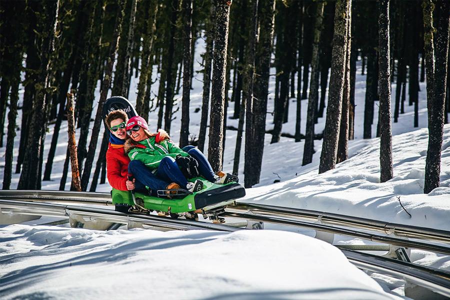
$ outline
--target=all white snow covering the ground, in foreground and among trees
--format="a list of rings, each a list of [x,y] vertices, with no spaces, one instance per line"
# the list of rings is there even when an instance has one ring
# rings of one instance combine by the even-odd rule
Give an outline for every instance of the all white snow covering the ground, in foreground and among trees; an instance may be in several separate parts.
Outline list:
[[[203,44],[199,41],[195,70],[201,68],[198,61],[202,51]],[[155,74],[153,72],[153,76]],[[201,107],[201,79],[198,75],[192,81],[189,128],[192,135],[198,134],[200,124],[200,112],[195,110]],[[273,110],[273,80],[272,77],[268,112]],[[136,87],[137,79],[133,77],[129,95],[132,103],[135,103]],[[407,106],[407,103],[405,113],[400,115],[398,123],[393,123],[392,180],[379,183],[379,139],[362,139],[365,76],[360,75],[358,70],[355,140],[349,141],[349,159],[337,164],[334,170],[317,174],[321,141],[314,141],[316,153],[312,163],[301,166],[303,141],[295,143],[293,139],[281,137],[279,143],[270,144],[270,135],[266,135],[260,183],[247,189],[247,196],[242,200],[450,230],[450,125],[444,127],[441,187],[424,195],[427,148],[424,83],[420,83],[420,88],[419,127],[412,128],[413,107]],[[157,83],[153,84],[152,90],[157,92]],[[97,90],[97,97],[98,94]],[[395,85],[392,85],[392,95],[395,95]],[[180,105],[181,96],[177,95],[175,99],[176,105]],[[293,134],[296,101],[292,98],[289,102],[289,121],[283,124],[282,132]],[[306,105],[307,100],[303,100],[302,132]],[[228,116],[232,114],[233,107],[234,103],[229,103]],[[377,109],[375,103],[372,136],[376,132]],[[92,117],[95,110],[96,102]],[[156,130],[156,114],[156,111],[150,113],[150,130]],[[177,141],[180,111],[174,116],[170,135]],[[20,119],[21,111],[17,120]],[[227,125],[237,127],[237,120],[228,119]],[[270,129],[272,126],[272,116],[268,113],[266,127]],[[321,132],[323,128],[324,118],[319,118],[315,132]],[[44,158],[48,153],[53,126],[48,129]],[[67,145],[66,129],[67,125],[63,122],[52,180],[42,182],[42,189],[55,190],[59,187]],[[15,149],[18,148],[19,133],[15,139]],[[227,172],[232,170],[235,139],[236,131],[227,130],[223,166]],[[14,151],[13,170],[16,155],[17,151]],[[2,167],[4,156],[0,157]],[[244,177],[242,172],[243,147],[240,181]],[[12,189],[16,188],[18,178],[18,174],[13,175]],[[3,172],[0,172],[2,180]],[[280,182],[273,184],[275,180]],[[66,190],[69,186],[70,172]],[[108,184],[97,187],[97,191],[109,190]],[[399,201],[412,217],[401,208]],[[279,229],[274,226],[267,228]],[[398,281],[376,275],[370,278],[349,264],[331,245],[298,234],[310,234],[307,231],[291,231],[294,232],[96,232],[23,224],[1,226],[0,298],[395,299],[394,295],[403,296]],[[368,242],[335,237],[334,243]],[[445,256],[413,250],[411,261],[450,271],[450,258]],[[391,294],[386,294],[383,289]]]

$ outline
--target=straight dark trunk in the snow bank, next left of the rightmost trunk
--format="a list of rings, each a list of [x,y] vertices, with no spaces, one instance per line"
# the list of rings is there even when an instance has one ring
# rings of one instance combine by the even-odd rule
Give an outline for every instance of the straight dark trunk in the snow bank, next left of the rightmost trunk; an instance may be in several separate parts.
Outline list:
[[[392,170],[392,127],[390,113],[390,69],[389,69],[389,0],[379,1],[378,17],[379,43],[379,166],[380,182],[393,177]]]

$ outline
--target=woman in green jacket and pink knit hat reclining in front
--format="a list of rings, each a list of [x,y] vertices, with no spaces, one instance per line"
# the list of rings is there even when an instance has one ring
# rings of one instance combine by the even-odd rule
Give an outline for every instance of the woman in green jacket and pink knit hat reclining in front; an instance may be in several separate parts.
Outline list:
[[[129,119],[126,123],[126,133],[130,139],[125,143],[125,153],[131,161],[141,161],[160,179],[173,181],[189,192],[198,192],[203,188],[201,180],[197,179],[192,183],[186,179],[196,177],[198,173],[216,184],[233,180],[232,175],[221,171],[214,174],[204,155],[193,146],[186,146],[183,151],[172,142],[164,130],[150,133],[147,122],[139,116]]]

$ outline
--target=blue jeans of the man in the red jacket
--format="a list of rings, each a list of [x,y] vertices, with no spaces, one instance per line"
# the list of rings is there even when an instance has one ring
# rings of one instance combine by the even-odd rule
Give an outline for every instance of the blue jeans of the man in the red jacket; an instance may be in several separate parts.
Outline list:
[[[128,164],[128,172],[133,174],[136,181],[134,182],[135,190],[139,192],[145,192],[145,186],[149,187],[152,191],[165,190],[169,182],[161,180],[156,175],[151,173],[150,169],[138,161],[132,160]]]

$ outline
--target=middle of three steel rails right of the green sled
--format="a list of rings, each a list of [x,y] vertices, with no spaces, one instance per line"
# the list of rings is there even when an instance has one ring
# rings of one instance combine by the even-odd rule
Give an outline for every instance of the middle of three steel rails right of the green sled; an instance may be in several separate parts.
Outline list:
[[[337,227],[332,227],[332,226],[324,225],[324,224],[310,223],[310,222],[304,222],[304,221],[292,220],[292,219],[283,219],[283,218],[279,218],[279,217],[262,216],[262,215],[249,214],[249,213],[230,213],[230,212],[226,212],[226,211],[224,213],[224,217],[239,218],[239,219],[245,219],[245,220],[250,220],[250,221],[309,228],[309,229],[313,229],[313,230],[324,231],[324,232],[339,234],[339,235],[343,235],[343,236],[350,236],[350,237],[360,238],[360,239],[369,240],[369,241],[378,242],[378,243],[390,244],[390,245],[413,248],[413,249],[421,249],[421,250],[426,250],[426,251],[430,251],[430,252],[434,252],[434,253],[450,255],[450,247],[443,247],[443,246],[427,244],[427,243],[422,243],[422,242],[373,235],[373,234],[360,232],[360,231],[356,231],[356,230],[352,230],[352,229],[337,228]]]

